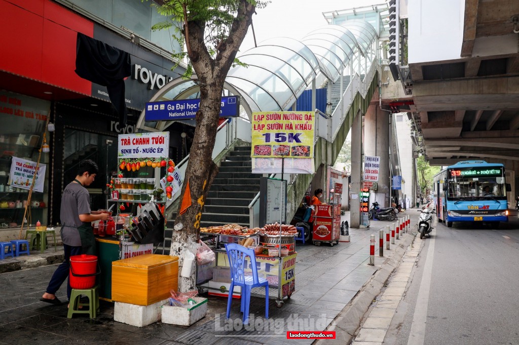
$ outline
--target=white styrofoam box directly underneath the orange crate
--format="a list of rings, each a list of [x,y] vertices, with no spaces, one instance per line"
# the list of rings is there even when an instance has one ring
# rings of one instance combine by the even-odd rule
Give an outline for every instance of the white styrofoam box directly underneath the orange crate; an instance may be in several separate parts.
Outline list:
[[[160,300],[149,306],[115,302],[114,321],[136,327],[144,327],[160,321],[161,307],[168,303],[167,299]]]

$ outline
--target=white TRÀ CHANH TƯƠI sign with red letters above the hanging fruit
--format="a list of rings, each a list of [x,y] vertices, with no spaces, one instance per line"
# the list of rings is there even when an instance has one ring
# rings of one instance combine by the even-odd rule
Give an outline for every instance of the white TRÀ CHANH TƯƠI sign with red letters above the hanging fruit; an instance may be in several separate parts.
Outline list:
[[[169,132],[119,134],[117,157],[160,158],[169,155]]]

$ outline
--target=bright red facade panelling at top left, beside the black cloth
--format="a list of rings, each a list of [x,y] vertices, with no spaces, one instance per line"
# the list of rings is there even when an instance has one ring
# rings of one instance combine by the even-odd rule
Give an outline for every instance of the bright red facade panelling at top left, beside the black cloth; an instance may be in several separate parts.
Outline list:
[[[0,13],[0,70],[90,95],[74,69],[77,32],[92,37],[92,22],[49,0],[0,0]]]

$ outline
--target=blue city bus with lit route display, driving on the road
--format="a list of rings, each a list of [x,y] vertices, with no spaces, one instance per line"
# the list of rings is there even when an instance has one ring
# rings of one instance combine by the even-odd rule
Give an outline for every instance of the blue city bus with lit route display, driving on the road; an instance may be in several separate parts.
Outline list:
[[[434,176],[434,200],[438,222],[486,222],[497,228],[508,222],[504,166],[485,161],[463,161]]]

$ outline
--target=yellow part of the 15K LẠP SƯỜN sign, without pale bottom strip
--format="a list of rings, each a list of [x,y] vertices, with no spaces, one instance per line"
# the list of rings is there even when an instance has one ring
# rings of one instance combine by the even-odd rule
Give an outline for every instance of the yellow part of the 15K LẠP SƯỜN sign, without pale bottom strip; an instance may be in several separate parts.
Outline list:
[[[252,113],[252,157],[313,157],[314,111]]]

